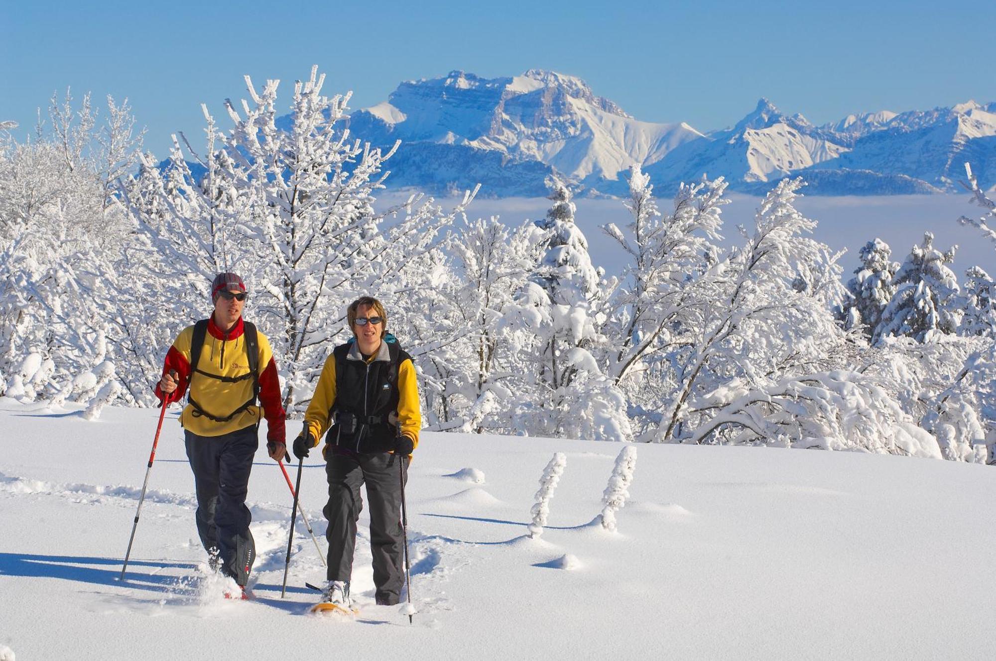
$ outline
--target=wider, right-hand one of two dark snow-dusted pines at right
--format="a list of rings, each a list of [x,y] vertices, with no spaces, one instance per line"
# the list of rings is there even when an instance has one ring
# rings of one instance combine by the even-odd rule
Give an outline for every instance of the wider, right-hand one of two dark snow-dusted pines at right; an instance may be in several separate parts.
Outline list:
[[[922,342],[938,333],[957,331],[962,314],[958,279],[946,266],[954,261],[957,248],[942,253],[933,246],[933,234],[924,233],[923,244],[913,246],[895,273],[895,292],[882,311],[872,341],[908,335]]]

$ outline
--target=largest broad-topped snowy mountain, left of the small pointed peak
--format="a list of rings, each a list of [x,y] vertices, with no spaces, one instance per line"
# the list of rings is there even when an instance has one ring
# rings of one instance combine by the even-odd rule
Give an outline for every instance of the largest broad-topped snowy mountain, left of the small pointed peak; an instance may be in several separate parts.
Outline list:
[[[497,194],[518,193],[522,182],[495,168],[505,173],[525,168],[539,190],[553,173],[573,182],[618,181],[629,165],[656,162],[702,136],[683,122],[638,121],[596,96],[582,79],[541,69],[495,79],[451,71],[407,81],[388,101],[357,110],[350,120],[355,135],[377,146],[404,143],[394,160],[395,185],[424,186],[425,172],[410,184],[398,182],[414,166],[434,169],[433,178],[449,181],[458,173],[460,181],[467,179],[459,185],[466,187],[504,179],[492,184]],[[488,171],[480,172],[485,163]]]

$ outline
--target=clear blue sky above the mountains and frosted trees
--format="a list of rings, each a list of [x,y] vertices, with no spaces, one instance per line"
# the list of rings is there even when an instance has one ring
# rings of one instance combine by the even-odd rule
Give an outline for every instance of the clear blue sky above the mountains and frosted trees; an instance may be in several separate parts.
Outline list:
[[[996,101],[996,3],[0,0],[0,120],[35,122],[55,91],[129,98],[146,146],[245,97],[288,93],[312,64],[354,108],[462,69],[579,76],[648,121],[730,125],[764,96],[822,123],[854,111]],[[301,7],[301,9],[296,9]]]

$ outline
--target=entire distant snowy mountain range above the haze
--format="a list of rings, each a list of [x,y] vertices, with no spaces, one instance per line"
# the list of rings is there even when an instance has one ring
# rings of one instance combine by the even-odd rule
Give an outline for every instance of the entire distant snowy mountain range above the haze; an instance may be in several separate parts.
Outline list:
[[[484,79],[460,71],[401,83],[387,101],[356,110],[352,133],[376,146],[401,140],[391,187],[447,192],[482,184],[495,197],[546,194],[559,176],[588,194],[624,194],[640,163],[656,191],[706,173],[761,193],[803,176],[809,194],[935,193],[958,188],[963,163],[996,184],[996,103],[851,114],[816,126],[762,99],[732,128],[640,121],[581,79],[530,70]]]

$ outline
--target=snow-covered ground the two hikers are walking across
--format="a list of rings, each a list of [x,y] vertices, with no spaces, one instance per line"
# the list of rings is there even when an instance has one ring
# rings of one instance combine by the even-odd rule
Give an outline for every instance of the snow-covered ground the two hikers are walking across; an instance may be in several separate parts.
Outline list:
[[[353,576],[362,612],[348,621],[306,614],[315,594],[304,583],[324,570],[300,520],[280,598],[291,498],[264,448],[249,485],[255,599],[212,596],[176,411],[120,582],[156,411],[108,408],[89,422],[76,405],[0,399],[0,656],[5,647],[18,661],[996,655],[990,467],[639,445],[614,534],[596,519],[624,446],[426,433],[407,490],[414,623],[398,606],[373,605],[366,513]],[[529,539],[555,452],[567,466],[548,527]],[[302,501],[323,549],[325,495],[313,457]]]

